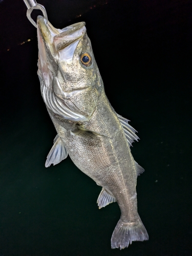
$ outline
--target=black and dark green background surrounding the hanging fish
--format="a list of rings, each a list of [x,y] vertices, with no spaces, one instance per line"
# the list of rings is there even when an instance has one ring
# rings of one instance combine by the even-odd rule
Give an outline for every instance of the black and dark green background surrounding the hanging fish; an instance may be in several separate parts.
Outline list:
[[[139,131],[132,153],[145,169],[138,211],[150,240],[112,250],[118,205],[99,210],[100,187],[69,157],[45,168],[56,132],[39,90],[36,29],[22,0],[4,0],[0,255],[191,256],[192,1],[38,3],[56,28],[86,22],[106,95]]]

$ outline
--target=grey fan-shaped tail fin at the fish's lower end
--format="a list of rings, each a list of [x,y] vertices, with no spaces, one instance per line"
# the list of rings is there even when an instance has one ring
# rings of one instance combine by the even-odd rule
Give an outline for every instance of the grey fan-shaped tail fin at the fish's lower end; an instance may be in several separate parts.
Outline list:
[[[132,244],[133,241],[148,240],[147,231],[139,217],[137,222],[118,221],[111,238],[111,247],[124,249]]]

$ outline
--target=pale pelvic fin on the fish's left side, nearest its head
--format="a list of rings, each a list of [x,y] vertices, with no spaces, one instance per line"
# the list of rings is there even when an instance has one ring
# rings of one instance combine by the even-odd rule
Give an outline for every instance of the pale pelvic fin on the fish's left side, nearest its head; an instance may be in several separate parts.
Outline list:
[[[53,140],[54,145],[52,146],[46,160],[46,167],[49,167],[52,163],[53,165],[60,163],[62,160],[66,159],[68,156],[67,150],[58,134]]]

